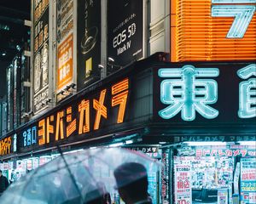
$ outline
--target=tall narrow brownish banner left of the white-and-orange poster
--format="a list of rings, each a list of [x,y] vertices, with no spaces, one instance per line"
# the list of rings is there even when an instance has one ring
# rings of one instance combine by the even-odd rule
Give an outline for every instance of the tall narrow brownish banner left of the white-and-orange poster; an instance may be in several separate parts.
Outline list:
[[[43,111],[49,98],[49,1],[34,3],[33,110]]]

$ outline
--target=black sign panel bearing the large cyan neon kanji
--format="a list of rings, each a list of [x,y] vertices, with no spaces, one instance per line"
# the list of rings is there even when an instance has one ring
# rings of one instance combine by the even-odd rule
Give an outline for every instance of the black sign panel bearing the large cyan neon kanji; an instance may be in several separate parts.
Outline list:
[[[175,64],[155,73],[156,120],[255,122],[256,64]]]

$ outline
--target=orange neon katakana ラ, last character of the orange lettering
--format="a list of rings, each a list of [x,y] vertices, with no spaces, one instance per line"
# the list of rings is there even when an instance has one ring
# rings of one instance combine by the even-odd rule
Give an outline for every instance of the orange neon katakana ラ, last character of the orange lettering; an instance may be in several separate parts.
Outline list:
[[[118,82],[112,87],[112,106],[119,105],[119,114],[117,123],[124,122],[126,102],[128,98],[129,80],[125,78],[123,81]]]

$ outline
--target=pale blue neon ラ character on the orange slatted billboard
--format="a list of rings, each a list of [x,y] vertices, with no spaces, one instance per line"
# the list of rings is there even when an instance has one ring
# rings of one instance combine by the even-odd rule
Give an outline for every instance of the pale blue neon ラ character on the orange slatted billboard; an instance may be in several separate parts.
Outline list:
[[[256,6],[241,3],[256,3],[256,0],[212,0],[212,3],[218,3],[212,5],[213,17],[235,17],[227,38],[242,38],[253,19]]]

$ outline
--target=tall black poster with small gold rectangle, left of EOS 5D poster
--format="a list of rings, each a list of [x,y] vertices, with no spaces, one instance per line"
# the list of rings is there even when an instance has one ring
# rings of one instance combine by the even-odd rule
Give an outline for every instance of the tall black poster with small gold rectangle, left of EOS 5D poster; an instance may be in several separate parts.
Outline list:
[[[78,89],[100,79],[101,1],[78,2]]]

